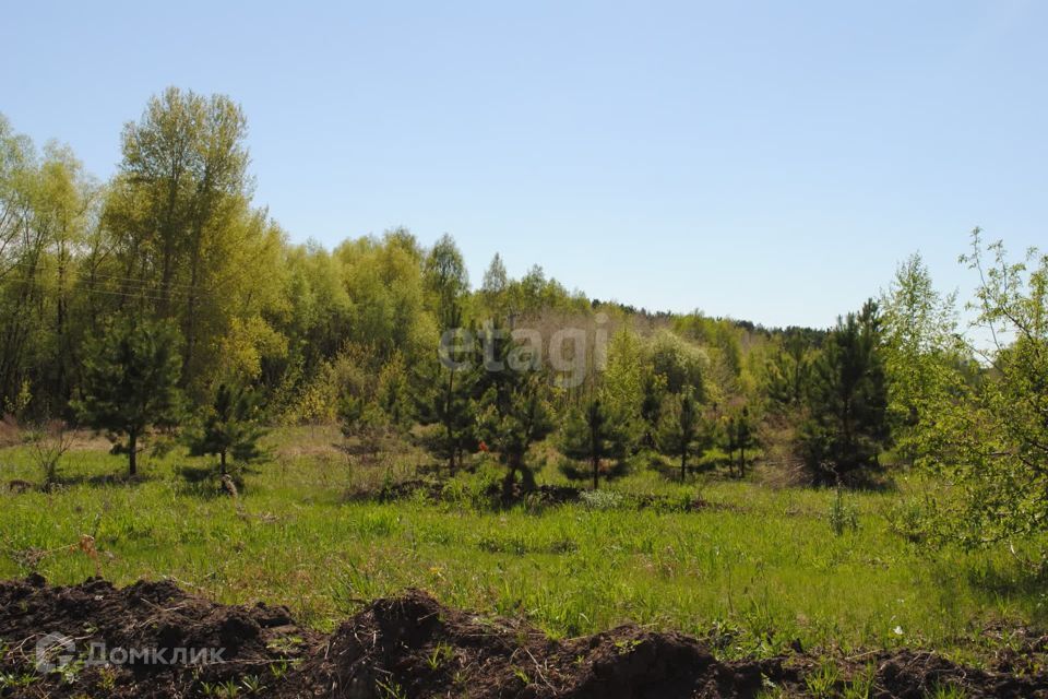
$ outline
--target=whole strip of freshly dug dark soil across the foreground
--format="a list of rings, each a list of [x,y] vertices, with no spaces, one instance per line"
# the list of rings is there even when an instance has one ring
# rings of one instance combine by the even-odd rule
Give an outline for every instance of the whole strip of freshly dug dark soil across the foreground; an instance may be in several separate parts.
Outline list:
[[[221,662],[195,666],[74,662],[40,673],[36,644],[50,632],[73,637],[81,661],[98,643],[110,657],[112,649],[163,650],[168,660],[176,648],[225,650]],[[827,689],[843,692],[873,668],[872,697],[933,696],[953,685],[965,697],[1048,698],[1046,639],[1027,640],[993,671],[917,651],[845,659]],[[802,654],[725,663],[700,640],[632,626],[551,641],[524,623],[450,609],[414,590],[371,603],[324,636],[296,625],[284,607],[214,604],[170,582],[122,590],[100,579],[69,588],[39,577],[0,582],[0,697],[627,699],[755,697],[773,688],[802,697],[814,690],[809,680],[824,676],[823,663]]]

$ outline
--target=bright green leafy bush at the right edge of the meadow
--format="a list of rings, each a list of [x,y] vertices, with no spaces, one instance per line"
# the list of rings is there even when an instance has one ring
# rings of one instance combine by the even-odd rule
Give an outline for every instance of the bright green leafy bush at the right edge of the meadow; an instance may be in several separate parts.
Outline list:
[[[1048,254],[1011,262],[976,229],[962,259],[979,274],[975,323],[991,346],[979,380],[948,376],[919,463],[955,484],[936,501],[939,536],[980,546],[1048,531]]]

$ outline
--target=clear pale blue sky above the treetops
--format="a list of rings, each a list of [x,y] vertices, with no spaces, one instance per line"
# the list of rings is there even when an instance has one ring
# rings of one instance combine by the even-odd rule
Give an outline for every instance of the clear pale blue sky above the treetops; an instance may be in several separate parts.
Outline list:
[[[825,327],[921,251],[1048,242],[1048,2],[7,3],[0,111],[108,177],[167,85],[293,240],[410,228],[569,288]],[[1043,246],[1044,247],[1044,246]]]

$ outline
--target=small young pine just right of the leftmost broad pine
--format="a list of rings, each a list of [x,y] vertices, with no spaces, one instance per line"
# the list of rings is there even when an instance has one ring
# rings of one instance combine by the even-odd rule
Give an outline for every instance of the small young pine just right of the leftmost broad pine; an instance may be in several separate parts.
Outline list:
[[[230,457],[240,463],[262,458],[258,442],[263,434],[254,395],[223,383],[201,424],[189,435],[189,452],[194,457],[218,457],[218,474],[224,476]]]

